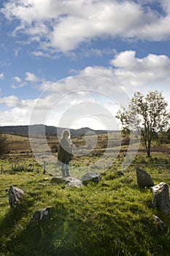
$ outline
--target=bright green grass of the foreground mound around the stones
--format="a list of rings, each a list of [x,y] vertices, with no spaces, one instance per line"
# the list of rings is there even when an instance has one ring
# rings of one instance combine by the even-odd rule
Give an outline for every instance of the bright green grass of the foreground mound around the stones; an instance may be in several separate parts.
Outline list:
[[[130,181],[109,170],[98,184],[80,189],[50,184],[41,173],[0,176],[0,255],[163,255],[170,251],[169,217],[152,208],[150,189],[139,190],[136,177]],[[158,173],[156,183],[163,181]],[[45,184],[46,186],[42,186]],[[25,192],[12,212],[9,186]],[[28,227],[39,208],[52,206],[47,219]],[[160,217],[166,230],[157,230],[152,214]]]

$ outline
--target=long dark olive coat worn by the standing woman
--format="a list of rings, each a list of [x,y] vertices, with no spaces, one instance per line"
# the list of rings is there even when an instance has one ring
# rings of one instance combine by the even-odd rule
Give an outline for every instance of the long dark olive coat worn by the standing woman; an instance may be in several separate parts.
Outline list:
[[[61,138],[58,145],[58,164],[68,164],[72,159],[72,141],[68,138]]]

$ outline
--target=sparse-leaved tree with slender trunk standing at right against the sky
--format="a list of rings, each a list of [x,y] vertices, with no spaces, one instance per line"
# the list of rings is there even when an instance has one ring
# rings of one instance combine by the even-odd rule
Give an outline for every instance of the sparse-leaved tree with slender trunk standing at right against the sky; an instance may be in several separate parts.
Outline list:
[[[151,142],[158,133],[167,129],[170,113],[166,110],[168,103],[159,91],[149,91],[144,97],[136,91],[128,105],[117,111],[116,118],[120,119],[124,134],[137,129],[141,132],[147,157],[150,156]]]

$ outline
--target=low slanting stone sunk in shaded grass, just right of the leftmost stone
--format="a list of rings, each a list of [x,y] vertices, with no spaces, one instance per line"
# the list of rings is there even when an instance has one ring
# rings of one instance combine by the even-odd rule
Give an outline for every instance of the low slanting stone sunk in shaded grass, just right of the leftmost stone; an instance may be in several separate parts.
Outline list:
[[[47,219],[51,210],[52,206],[47,206],[46,208],[35,211],[31,219],[29,220],[27,227],[34,227],[35,225],[38,225],[39,222],[42,221],[42,219]]]

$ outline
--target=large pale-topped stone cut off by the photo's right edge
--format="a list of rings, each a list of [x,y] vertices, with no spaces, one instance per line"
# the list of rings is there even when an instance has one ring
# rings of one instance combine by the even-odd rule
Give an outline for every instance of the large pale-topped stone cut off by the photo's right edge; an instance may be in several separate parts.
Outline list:
[[[169,186],[161,182],[151,187],[151,189],[153,192],[152,206],[160,209],[167,216],[170,216]]]

